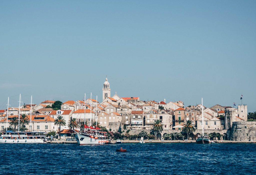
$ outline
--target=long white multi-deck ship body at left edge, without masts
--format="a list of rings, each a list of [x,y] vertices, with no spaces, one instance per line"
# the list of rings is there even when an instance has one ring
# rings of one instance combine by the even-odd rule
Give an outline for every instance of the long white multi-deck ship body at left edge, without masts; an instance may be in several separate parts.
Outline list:
[[[5,131],[0,136],[0,143],[46,143],[46,132]]]

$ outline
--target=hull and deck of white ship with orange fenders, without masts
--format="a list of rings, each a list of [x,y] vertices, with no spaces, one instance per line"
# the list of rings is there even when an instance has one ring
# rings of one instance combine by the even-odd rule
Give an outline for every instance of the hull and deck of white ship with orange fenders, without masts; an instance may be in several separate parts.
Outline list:
[[[98,131],[96,129],[87,130],[83,133],[76,132],[75,138],[79,145],[99,145],[109,142],[107,132]]]

